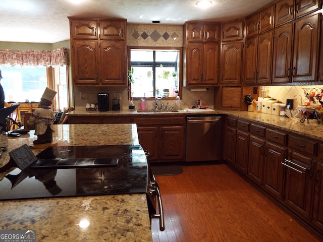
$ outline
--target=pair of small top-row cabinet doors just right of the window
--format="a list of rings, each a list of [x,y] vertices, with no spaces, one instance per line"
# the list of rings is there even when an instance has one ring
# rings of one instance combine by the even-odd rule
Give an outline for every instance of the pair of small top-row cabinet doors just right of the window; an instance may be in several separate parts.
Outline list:
[[[218,42],[220,41],[220,26],[216,23],[188,23],[188,42]]]

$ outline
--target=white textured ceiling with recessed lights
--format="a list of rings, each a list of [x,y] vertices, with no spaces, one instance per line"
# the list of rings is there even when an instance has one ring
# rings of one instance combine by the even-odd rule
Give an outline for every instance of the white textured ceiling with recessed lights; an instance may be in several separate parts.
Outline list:
[[[70,38],[68,16],[114,17],[132,24],[182,25],[187,20],[227,21],[245,17],[273,0],[2,0],[0,41],[56,43]],[[80,0],[79,0],[80,1]]]

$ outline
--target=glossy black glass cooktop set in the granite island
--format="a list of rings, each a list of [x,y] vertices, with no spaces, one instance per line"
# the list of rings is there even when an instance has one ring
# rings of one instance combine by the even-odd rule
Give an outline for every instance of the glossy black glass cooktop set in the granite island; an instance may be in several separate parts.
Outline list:
[[[38,159],[118,159],[95,168],[16,168],[0,180],[0,200],[145,193],[147,160],[141,146],[56,146]]]

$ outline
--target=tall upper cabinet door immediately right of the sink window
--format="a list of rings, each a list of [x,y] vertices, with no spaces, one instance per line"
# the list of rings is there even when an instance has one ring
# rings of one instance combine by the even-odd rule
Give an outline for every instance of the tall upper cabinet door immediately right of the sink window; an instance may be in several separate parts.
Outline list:
[[[186,55],[186,84],[201,84],[203,82],[203,44],[189,44]]]

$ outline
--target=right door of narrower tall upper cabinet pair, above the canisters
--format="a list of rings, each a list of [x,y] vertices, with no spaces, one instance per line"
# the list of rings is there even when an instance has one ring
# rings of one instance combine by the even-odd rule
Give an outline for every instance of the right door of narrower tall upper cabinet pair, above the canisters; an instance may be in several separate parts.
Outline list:
[[[271,83],[273,31],[259,35],[257,54],[257,83]]]

